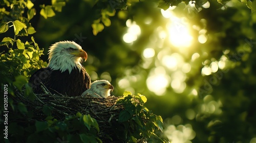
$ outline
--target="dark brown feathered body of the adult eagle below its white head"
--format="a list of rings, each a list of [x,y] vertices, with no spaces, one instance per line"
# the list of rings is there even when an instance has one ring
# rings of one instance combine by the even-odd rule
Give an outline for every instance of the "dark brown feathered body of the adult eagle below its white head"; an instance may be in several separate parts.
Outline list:
[[[60,70],[45,67],[38,69],[29,79],[29,83],[34,93],[44,93],[41,88],[42,83],[51,93],[80,96],[83,91],[90,88],[91,78],[84,68],[81,71],[73,69],[69,74],[68,70],[61,73]]]

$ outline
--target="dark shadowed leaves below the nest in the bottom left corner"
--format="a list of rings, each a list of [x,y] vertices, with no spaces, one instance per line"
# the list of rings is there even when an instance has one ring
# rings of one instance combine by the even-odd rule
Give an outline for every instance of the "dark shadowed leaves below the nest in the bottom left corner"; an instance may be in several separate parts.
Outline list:
[[[12,112],[5,142],[102,142],[98,123],[89,114],[78,112],[62,120],[48,116],[43,121],[27,121],[26,116],[33,118],[33,113],[23,103],[14,105]]]

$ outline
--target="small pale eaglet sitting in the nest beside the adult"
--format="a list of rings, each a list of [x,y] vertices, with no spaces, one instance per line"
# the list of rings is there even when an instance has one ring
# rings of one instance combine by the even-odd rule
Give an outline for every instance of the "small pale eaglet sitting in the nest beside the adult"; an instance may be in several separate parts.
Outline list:
[[[110,91],[113,91],[114,87],[107,80],[97,80],[92,83],[91,88],[82,93],[84,96],[92,96],[95,98],[106,98],[110,96]]]

